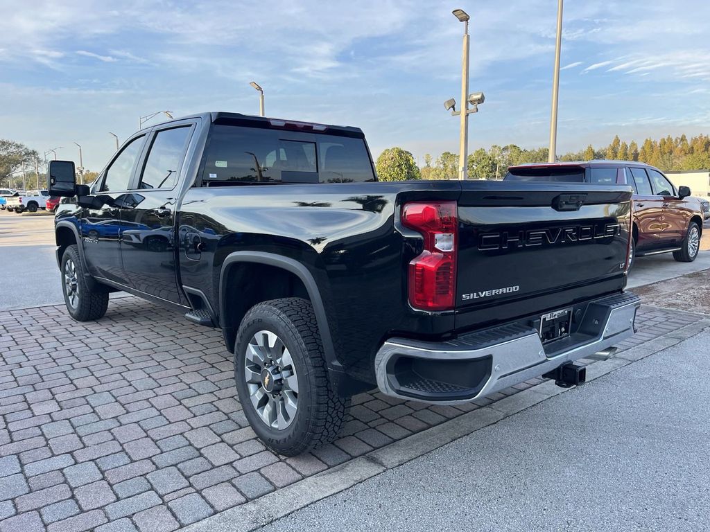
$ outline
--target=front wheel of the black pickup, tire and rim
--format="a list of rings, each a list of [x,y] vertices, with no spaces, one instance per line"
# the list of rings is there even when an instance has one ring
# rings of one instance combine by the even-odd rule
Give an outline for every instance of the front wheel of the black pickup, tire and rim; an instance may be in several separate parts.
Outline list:
[[[77,245],[70,245],[62,255],[62,292],[70,316],[77,321],[102,318],[109,307],[108,292],[89,290]]]

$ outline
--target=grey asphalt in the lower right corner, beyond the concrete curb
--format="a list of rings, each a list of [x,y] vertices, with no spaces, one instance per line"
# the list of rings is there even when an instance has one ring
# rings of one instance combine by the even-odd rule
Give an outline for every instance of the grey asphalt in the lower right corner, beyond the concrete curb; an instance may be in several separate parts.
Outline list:
[[[263,531],[710,530],[701,333]]]

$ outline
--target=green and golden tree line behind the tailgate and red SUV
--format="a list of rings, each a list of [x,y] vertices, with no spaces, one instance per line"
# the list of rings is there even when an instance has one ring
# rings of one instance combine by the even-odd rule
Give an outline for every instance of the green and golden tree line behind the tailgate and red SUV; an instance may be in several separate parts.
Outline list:
[[[526,162],[547,162],[547,148],[525,150],[515,144],[493,145],[486,150],[479,148],[468,157],[469,179],[503,179],[509,166]],[[673,138],[667,135],[660,140],[647,138],[638,145],[616,135],[606,147],[588,145],[584,150],[569,152],[557,158],[559,161],[589,161],[593,159],[640,161],[670,170],[710,169],[710,135],[686,135]],[[417,166],[413,155],[403,148],[388,148],[376,162],[378,177],[383,181],[407,179],[457,179],[459,156],[444,152],[434,159],[424,156],[424,166]]]

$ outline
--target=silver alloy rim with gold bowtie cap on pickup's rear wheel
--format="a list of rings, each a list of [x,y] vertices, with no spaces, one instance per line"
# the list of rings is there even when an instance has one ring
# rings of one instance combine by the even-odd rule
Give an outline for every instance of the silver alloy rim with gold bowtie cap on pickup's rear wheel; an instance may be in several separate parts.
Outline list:
[[[288,348],[275,333],[258,331],[244,357],[249,399],[261,421],[283,431],[298,409],[298,379]]]

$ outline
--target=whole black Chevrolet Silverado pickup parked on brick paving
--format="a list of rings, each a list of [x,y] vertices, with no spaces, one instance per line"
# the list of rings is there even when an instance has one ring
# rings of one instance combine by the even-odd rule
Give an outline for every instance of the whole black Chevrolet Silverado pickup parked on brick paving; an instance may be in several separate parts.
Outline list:
[[[294,455],[377,386],[456,404],[634,331],[631,189],[377,182],[358,128],[203,113],[133,135],[92,187],[51,161],[69,313],[125,291],[219,327],[253,430]],[[117,302],[116,304],[121,304]]]

